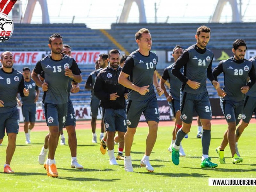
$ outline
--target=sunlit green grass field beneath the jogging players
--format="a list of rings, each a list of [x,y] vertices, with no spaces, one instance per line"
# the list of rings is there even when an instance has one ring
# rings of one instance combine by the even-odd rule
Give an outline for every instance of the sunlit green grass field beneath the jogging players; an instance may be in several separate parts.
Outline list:
[[[255,191],[250,186],[208,186],[208,178],[256,178],[256,130],[255,124],[246,128],[239,140],[239,151],[244,161],[242,164],[231,163],[229,146],[226,148],[226,164],[218,164],[217,169],[201,169],[201,140],[196,139],[197,128],[193,126],[188,139],[182,141],[186,157],[180,157],[179,166],[171,162],[170,145],[172,127],[159,127],[158,138],[150,156],[153,173],[140,167],[140,160],[145,151],[148,128],[137,129],[132,146],[132,164],[134,172],[124,171],[124,162],[109,165],[107,153],[100,153],[100,144],[92,144],[91,130],[77,130],[78,162],[83,170],[70,168],[68,145],[58,146],[56,162],[58,178],[49,178],[37,158],[47,132],[32,132],[31,145],[25,144],[23,132],[18,134],[17,147],[11,167],[15,174],[2,173],[5,162],[7,137],[0,146],[0,186],[1,191]],[[220,145],[226,125],[212,125],[212,140],[209,156],[218,163],[215,152]],[[99,132],[99,130],[97,130]],[[66,137],[67,133],[64,131]],[[99,133],[98,133],[99,135]],[[67,138],[66,138],[67,141]],[[117,151],[117,145],[115,146]]]

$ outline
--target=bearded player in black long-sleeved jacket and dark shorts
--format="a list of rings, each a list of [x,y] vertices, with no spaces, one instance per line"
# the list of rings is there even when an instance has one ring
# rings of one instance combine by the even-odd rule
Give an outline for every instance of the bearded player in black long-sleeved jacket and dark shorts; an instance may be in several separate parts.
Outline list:
[[[114,138],[117,143],[124,140],[127,130],[125,98],[128,89],[118,84],[118,77],[121,72],[120,53],[116,49],[108,52],[109,65],[98,74],[93,91],[100,99],[100,106],[103,108],[103,118],[107,131],[107,147],[110,165],[118,165],[114,156]],[[115,137],[117,131],[118,136]],[[118,154],[122,156],[122,154]],[[124,157],[123,157],[124,158]]]

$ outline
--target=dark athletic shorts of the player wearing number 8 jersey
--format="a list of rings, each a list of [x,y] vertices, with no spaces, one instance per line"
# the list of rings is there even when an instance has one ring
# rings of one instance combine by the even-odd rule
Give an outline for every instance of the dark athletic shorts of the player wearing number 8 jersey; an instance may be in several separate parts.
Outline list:
[[[19,132],[19,112],[18,110],[10,111],[7,113],[0,113],[0,139],[3,139],[4,133]]]

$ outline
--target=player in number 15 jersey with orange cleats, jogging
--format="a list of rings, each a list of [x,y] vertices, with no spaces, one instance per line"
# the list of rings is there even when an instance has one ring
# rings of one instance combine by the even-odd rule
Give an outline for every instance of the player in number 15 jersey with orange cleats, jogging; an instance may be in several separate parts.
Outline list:
[[[50,131],[48,175],[58,177],[54,156],[58,145],[59,131],[63,129],[67,116],[69,78],[80,83],[82,76],[74,58],[61,53],[63,40],[60,34],[52,34],[49,37],[48,46],[51,49],[51,54],[37,62],[32,71],[32,79],[44,91],[42,106],[45,109],[46,122]],[[38,76],[42,71],[44,71],[45,82],[42,82]]]

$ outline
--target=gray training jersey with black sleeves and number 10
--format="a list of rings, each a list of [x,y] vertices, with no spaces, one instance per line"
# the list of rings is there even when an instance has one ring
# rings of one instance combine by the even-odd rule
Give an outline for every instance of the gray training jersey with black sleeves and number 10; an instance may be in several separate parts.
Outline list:
[[[141,55],[138,50],[132,52],[125,61],[122,72],[130,76],[130,81],[138,87],[149,85],[146,95],[131,90],[128,94],[129,100],[143,101],[156,97],[153,85],[153,74],[156,70],[158,56],[149,51],[148,56]]]

